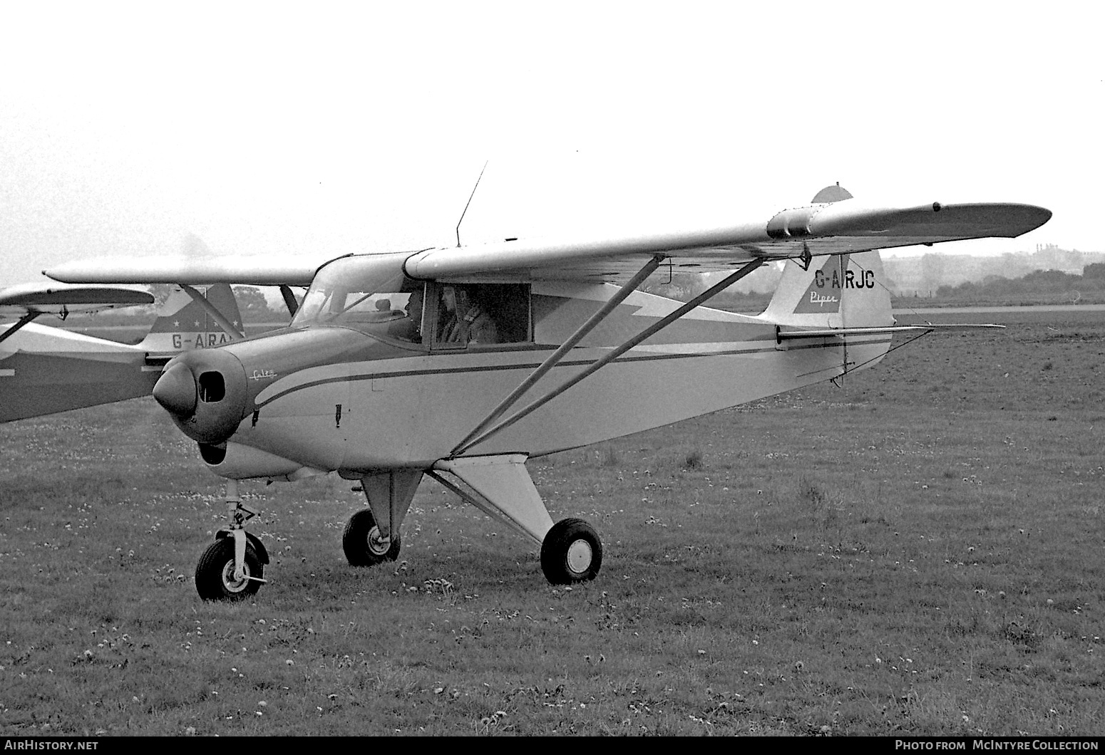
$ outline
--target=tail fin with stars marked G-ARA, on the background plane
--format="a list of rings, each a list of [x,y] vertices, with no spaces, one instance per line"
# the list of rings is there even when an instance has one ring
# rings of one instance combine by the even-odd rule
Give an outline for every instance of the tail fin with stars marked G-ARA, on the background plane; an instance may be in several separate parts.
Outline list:
[[[215,284],[207,289],[208,302],[225,316],[234,326],[241,327],[242,315],[238,310],[234,293],[228,284]],[[149,333],[138,345],[155,354],[177,353],[190,349],[210,349],[231,341],[227,333],[211,318],[198,301],[182,289],[173,289],[158,310],[158,318]]]

